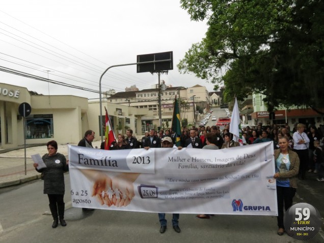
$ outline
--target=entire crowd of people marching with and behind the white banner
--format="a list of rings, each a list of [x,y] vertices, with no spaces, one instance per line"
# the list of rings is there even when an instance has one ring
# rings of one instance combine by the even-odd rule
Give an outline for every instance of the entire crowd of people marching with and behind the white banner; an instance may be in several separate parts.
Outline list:
[[[137,149],[137,148],[195,148],[195,149],[229,149],[240,146],[233,140],[233,134],[230,133],[229,125],[223,130],[219,126],[192,126],[183,127],[180,135],[181,145],[176,147],[177,135],[171,129],[161,129],[156,131],[150,129],[145,132],[145,136],[139,141],[132,135],[133,131],[127,129],[124,134],[117,135],[110,150],[119,149]],[[310,125],[307,129],[304,124],[295,124],[292,130],[288,124],[284,126],[263,126],[259,123],[257,126],[247,126],[242,129],[244,145],[257,144],[273,141],[275,149],[275,167],[274,178],[277,180],[277,200],[278,200],[278,235],[284,234],[283,214],[292,205],[292,198],[295,195],[297,180],[304,180],[306,172],[318,173],[318,181],[324,181],[323,172],[323,134],[315,126]],[[79,142],[78,146],[92,147],[94,131],[88,130],[85,137]],[[63,173],[68,170],[68,161],[65,157],[57,153],[58,147],[55,141],[47,144],[48,152],[42,159],[46,168],[37,169],[38,164],[34,164],[37,171],[44,173],[44,194],[48,194],[49,207],[53,215],[53,228],[66,226],[64,220],[64,177]],[[101,144],[104,149],[104,143]],[[60,183],[51,183],[52,178],[56,178]],[[83,208],[83,210],[93,210]],[[209,219],[213,214],[198,214],[200,219]],[[167,228],[165,213],[158,214],[160,221],[160,233],[164,233]],[[179,214],[174,213],[172,218],[173,228],[180,232],[178,225]]]

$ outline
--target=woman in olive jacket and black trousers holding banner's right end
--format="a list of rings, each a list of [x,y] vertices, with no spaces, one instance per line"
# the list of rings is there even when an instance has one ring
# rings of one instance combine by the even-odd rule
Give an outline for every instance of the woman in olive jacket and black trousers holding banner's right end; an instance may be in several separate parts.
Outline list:
[[[278,235],[285,232],[283,215],[284,206],[287,210],[292,205],[292,198],[296,193],[297,176],[299,172],[299,157],[296,152],[289,148],[289,141],[286,137],[279,139],[280,149],[275,150],[277,180],[277,204],[278,204]]]

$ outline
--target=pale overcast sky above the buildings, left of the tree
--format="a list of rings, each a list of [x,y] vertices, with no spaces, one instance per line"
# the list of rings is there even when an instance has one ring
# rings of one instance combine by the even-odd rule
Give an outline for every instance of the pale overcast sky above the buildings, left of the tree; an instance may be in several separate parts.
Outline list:
[[[211,92],[213,84],[177,69],[206,31],[206,23],[191,21],[177,0],[2,0],[0,66],[98,91],[107,67],[135,63],[137,55],[173,51],[174,68],[160,79],[173,87],[199,84]],[[44,95],[99,97],[3,71],[0,83]],[[150,89],[157,83],[156,73],[124,66],[107,71],[102,91],[124,92],[132,85]]]

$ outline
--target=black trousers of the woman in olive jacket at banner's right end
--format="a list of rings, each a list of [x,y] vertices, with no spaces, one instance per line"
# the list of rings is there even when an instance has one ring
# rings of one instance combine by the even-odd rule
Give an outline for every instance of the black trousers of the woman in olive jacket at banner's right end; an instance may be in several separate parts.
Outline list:
[[[285,211],[292,205],[292,198],[296,194],[296,188],[277,186],[277,204],[278,204],[278,227],[285,228],[283,223],[284,207]]]

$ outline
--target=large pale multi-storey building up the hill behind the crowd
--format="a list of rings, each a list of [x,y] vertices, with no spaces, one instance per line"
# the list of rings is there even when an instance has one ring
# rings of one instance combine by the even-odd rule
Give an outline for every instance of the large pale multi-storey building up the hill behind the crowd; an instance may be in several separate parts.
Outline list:
[[[107,98],[107,101],[114,104],[124,104],[137,109],[147,109],[152,113],[142,116],[141,130],[144,132],[153,127],[159,127],[159,89],[145,89],[140,91],[119,92]],[[161,99],[161,122],[171,126],[175,97],[180,100],[180,117],[186,119],[188,123],[193,124],[194,118],[197,121],[200,107],[202,113],[209,111],[211,99],[206,87],[196,85],[190,88],[184,87],[166,87],[160,91]],[[196,114],[194,114],[194,112]]]

